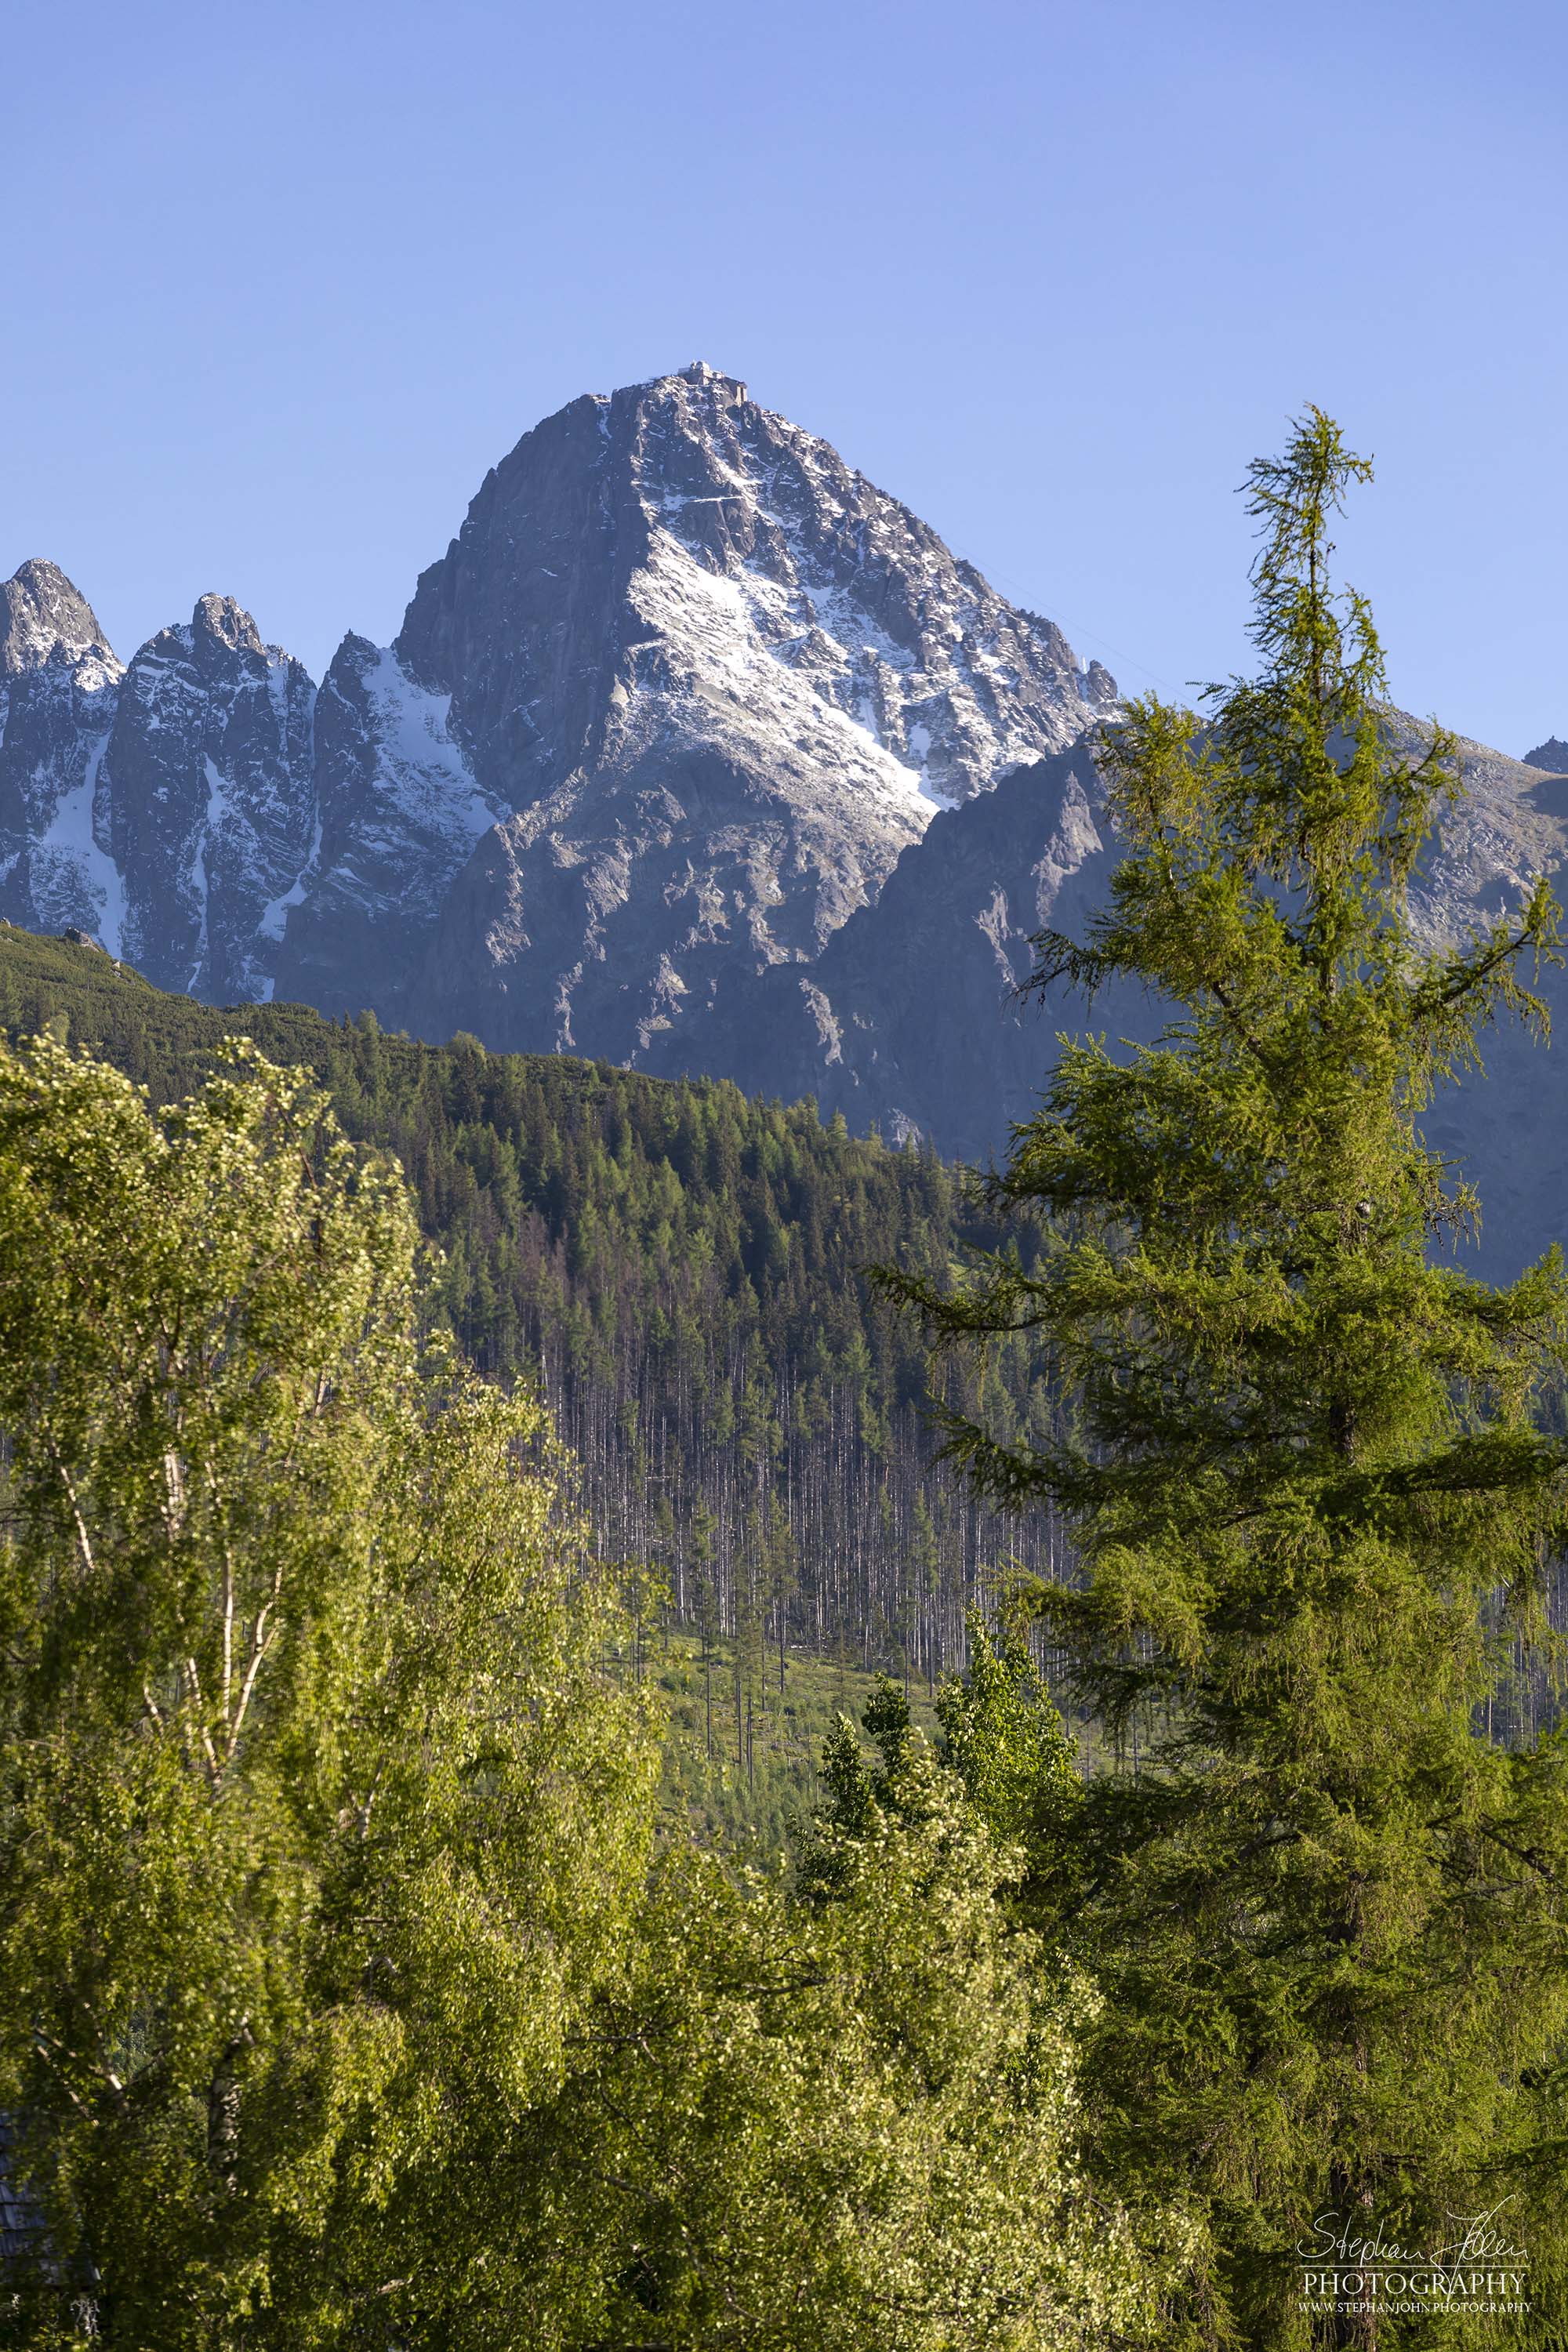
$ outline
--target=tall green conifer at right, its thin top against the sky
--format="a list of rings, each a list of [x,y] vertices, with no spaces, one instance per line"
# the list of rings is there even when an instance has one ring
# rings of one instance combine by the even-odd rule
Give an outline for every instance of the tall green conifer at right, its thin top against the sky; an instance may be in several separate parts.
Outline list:
[[[1495,1745],[1486,1698],[1549,1649],[1568,1284],[1556,1254],[1462,1270],[1479,1204],[1420,1131],[1488,1023],[1544,1030],[1556,908],[1542,880],[1436,950],[1413,922],[1460,776],[1443,729],[1401,748],[1331,586],[1368,477],[1316,409],[1253,463],[1258,675],[1105,736],[1126,856],[1034,988],[1133,978],[1173,1014],[1152,1049],[1063,1047],[987,1185],[1041,1228],[1027,1268],[886,1277],[940,1343],[1027,1334],[1067,1406],[1037,1444],[952,1416],[947,1454],[1074,1536],[1032,1604],[1112,1762],[1030,1907],[1103,1992],[1093,2161],[1201,2234],[1171,2345],[1561,2340],[1568,1757]],[[1302,2310],[1319,2216],[1427,2249],[1500,2199],[1530,2317]]]

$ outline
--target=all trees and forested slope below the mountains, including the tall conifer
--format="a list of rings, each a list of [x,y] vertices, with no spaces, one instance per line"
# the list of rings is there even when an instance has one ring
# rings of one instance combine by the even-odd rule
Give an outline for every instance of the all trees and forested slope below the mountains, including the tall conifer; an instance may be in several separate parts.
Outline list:
[[[1559,910],[1410,924],[1368,475],[985,1176],[0,934],[0,2340],[1568,2343],[1568,1279],[1418,1131]]]

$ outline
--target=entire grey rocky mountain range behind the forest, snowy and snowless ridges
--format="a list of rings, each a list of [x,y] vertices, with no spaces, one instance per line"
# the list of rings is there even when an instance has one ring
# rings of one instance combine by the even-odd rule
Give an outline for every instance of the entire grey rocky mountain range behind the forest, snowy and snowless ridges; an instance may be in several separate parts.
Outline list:
[[[24,562],[0,917],[212,1004],[710,1073],[985,1160],[1058,1030],[1159,1030],[1138,997],[1013,997],[1030,936],[1105,896],[1114,710],[1053,621],[698,362],[527,433],[395,642],[343,637],[320,687],[223,595],[125,666]],[[1568,746],[1462,757],[1434,943],[1568,863]],[[1486,1272],[1568,1240],[1561,1049],[1497,1033],[1427,1134],[1481,1190]]]

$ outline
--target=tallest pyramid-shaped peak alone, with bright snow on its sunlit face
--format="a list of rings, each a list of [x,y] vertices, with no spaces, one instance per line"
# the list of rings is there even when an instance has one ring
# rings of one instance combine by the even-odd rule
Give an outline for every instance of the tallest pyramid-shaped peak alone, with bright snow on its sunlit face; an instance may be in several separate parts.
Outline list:
[[[423,955],[421,910],[357,898],[388,1009],[625,1061],[731,969],[813,957],[936,809],[1114,706],[1053,623],[708,367],[524,435],[395,659],[515,814]],[[301,910],[280,988],[320,1002],[329,938]]]

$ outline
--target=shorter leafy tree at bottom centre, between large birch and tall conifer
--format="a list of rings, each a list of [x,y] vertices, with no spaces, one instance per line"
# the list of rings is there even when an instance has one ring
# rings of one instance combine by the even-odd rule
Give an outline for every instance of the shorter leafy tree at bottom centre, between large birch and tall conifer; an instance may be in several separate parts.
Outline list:
[[[1150,2263],[1074,2161],[1079,1992],[1034,1990],[997,1903],[1016,1858],[903,1693],[867,1715],[882,1771],[860,1802],[849,1757],[825,1757],[804,1900],[776,1872],[663,1851],[635,1980],[599,2002],[541,2143],[614,2249],[574,2343],[1150,2340]],[[538,2253],[520,2253],[520,2312]]]

